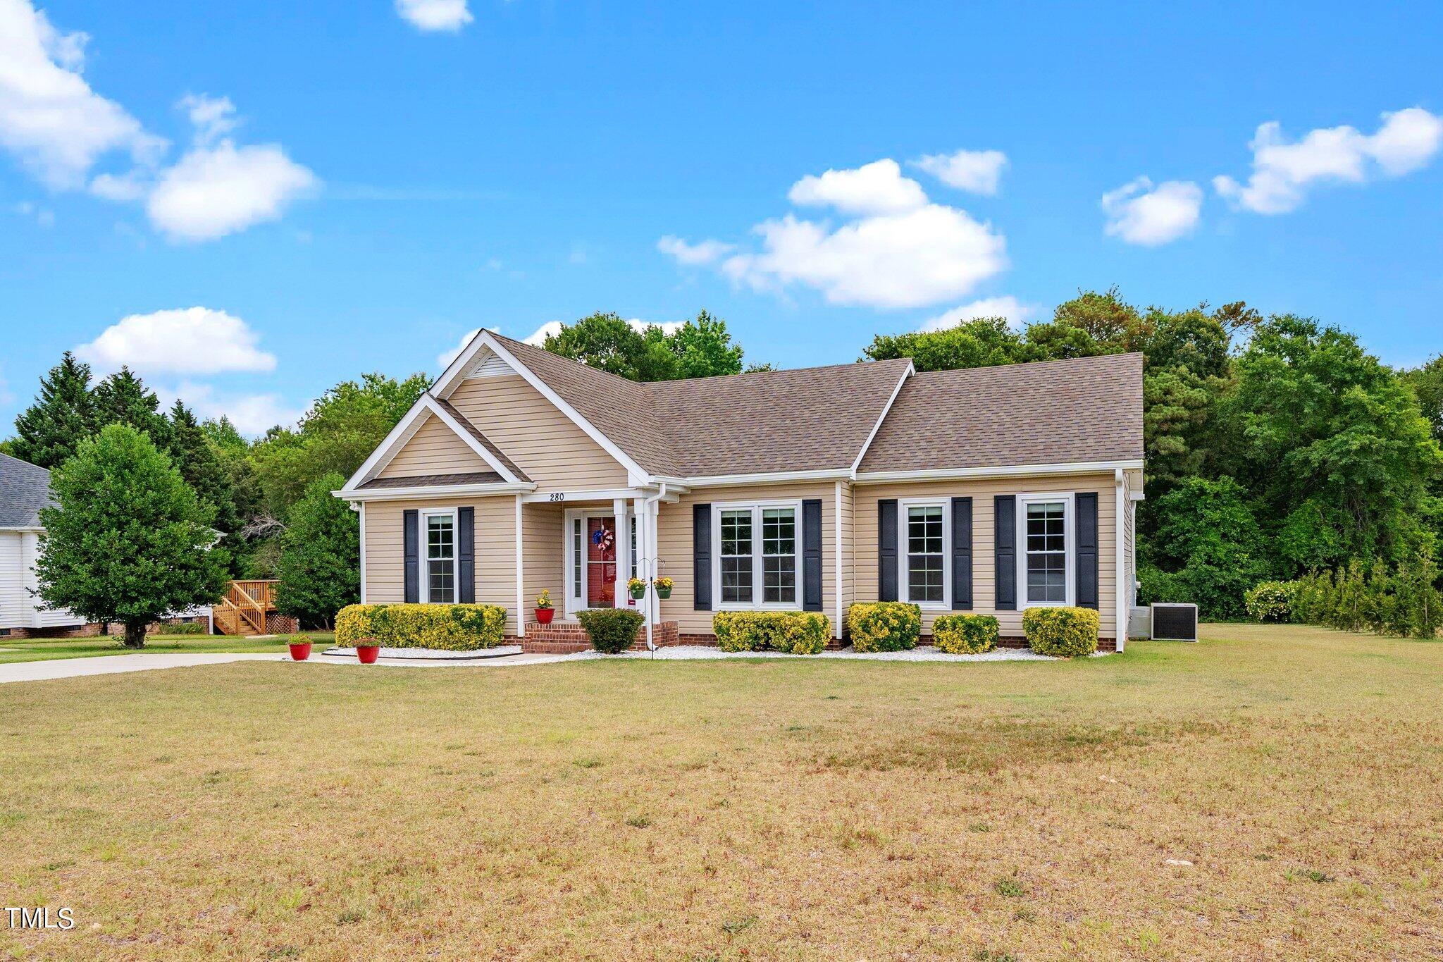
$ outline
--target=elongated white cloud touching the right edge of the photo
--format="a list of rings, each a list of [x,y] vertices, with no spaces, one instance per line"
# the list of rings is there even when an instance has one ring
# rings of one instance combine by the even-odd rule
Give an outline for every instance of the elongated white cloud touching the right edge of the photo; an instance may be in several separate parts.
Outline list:
[[[1247,183],[1212,179],[1235,208],[1254,213],[1296,211],[1315,183],[1364,183],[1371,176],[1401,177],[1427,166],[1443,147],[1443,118],[1410,107],[1382,114],[1374,134],[1354,127],[1322,127],[1289,141],[1283,125],[1268,121],[1253,141],[1253,175]]]

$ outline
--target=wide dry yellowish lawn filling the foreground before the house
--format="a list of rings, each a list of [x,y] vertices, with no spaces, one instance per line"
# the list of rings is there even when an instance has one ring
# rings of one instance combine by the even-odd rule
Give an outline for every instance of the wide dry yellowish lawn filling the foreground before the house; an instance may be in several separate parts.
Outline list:
[[[0,958],[1418,959],[1443,643],[0,685]]]

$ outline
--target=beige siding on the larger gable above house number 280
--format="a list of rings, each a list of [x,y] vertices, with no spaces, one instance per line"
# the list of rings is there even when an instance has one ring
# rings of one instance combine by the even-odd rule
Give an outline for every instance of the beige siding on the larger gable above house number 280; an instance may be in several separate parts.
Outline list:
[[[620,462],[521,375],[470,378],[447,400],[537,482],[537,490],[626,487]]]

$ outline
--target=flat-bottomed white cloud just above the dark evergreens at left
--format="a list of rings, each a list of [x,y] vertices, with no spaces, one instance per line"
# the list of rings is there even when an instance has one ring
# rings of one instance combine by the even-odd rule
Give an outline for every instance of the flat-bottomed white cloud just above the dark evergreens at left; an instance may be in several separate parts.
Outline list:
[[[105,374],[128,365],[141,374],[221,374],[274,371],[276,355],[260,335],[232,314],[209,307],[130,314],[81,345],[75,355]]]

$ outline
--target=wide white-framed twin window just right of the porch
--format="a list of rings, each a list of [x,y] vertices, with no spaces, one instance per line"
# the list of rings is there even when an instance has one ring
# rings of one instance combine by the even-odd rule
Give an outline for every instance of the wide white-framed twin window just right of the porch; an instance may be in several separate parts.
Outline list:
[[[797,607],[799,505],[717,505],[713,511],[720,603]]]

